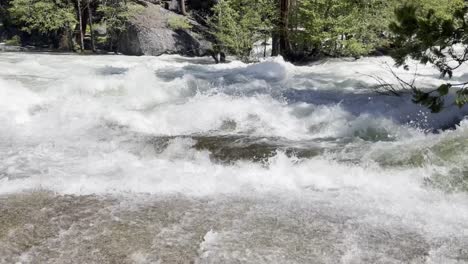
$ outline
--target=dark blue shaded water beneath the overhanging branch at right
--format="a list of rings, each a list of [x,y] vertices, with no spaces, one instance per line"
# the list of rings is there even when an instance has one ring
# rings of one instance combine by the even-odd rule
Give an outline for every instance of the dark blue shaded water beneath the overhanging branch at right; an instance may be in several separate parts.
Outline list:
[[[459,109],[453,105],[447,105],[441,113],[431,113],[427,108],[414,104],[412,95],[409,93],[397,97],[372,91],[355,93],[336,90],[289,89],[283,92],[283,96],[289,104],[339,105],[354,116],[369,115],[387,118],[397,124],[416,127],[431,133],[456,128],[468,114],[468,107]],[[447,102],[453,100],[453,95],[447,98]]]

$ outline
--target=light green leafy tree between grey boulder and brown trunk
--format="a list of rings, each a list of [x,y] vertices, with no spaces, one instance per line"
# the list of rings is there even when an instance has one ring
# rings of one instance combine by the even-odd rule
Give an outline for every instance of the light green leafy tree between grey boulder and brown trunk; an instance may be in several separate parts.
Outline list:
[[[221,0],[213,12],[219,48],[248,61],[254,43],[271,36],[277,10],[274,0]]]

